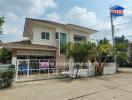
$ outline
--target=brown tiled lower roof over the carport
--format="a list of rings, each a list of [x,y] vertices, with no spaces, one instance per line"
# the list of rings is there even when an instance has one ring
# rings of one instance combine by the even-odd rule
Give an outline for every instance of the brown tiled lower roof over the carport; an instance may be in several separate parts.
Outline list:
[[[31,44],[30,41],[19,41],[19,42],[10,42],[1,44],[4,48],[10,49],[29,49],[29,50],[56,50],[57,48],[54,46],[47,45],[37,45]]]

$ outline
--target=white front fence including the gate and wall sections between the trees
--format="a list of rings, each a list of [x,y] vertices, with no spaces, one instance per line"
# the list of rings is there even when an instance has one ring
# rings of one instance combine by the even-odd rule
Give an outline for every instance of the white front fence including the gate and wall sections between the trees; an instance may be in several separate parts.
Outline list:
[[[55,59],[25,59],[17,60],[16,81],[29,81],[39,79],[61,78],[70,76],[75,77],[77,70],[74,66],[58,67]],[[104,67],[103,74],[115,74],[115,63],[107,63]],[[93,66],[78,70],[78,76],[88,77],[94,76],[95,70]]]

